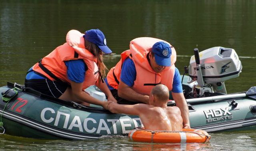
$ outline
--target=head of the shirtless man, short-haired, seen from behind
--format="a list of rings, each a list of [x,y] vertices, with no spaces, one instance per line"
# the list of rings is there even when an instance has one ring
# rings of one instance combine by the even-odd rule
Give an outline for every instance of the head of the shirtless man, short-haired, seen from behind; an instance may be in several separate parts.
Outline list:
[[[169,100],[169,89],[163,84],[158,84],[153,87],[149,96],[150,104],[156,103],[167,103]]]

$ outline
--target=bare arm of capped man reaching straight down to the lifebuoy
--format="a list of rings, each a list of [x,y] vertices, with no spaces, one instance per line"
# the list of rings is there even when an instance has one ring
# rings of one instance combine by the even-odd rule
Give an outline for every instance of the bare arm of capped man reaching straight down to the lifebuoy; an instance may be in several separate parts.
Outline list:
[[[188,104],[183,95],[183,93],[173,93],[172,97],[176,103],[176,106],[179,107],[181,116],[183,119],[183,128],[190,129],[190,122],[189,122],[189,112],[188,112]]]

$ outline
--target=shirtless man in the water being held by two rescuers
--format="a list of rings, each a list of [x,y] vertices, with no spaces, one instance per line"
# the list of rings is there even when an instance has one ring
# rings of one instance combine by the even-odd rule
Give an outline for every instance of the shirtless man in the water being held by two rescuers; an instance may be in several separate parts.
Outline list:
[[[176,106],[168,107],[169,90],[165,85],[156,85],[150,92],[149,104],[122,105],[114,102],[108,104],[112,113],[139,115],[147,130],[182,131],[182,117]]]

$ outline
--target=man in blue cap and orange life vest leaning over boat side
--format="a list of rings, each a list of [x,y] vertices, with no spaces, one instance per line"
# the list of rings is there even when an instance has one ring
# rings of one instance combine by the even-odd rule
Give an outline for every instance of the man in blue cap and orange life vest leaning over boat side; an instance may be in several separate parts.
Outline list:
[[[152,88],[166,85],[180,108],[183,127],[190,128],[188,106],[175,61],[176,51],[168,42],[136,38],[130,42],[130,50],[123,52],[120,62],[108,72],[105,81],[119,104],[148,104]]]

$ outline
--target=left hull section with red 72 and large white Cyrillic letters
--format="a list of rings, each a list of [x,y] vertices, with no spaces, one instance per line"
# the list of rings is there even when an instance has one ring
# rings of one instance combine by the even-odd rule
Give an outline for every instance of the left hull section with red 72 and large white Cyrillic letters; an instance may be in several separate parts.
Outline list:
[[[4,86],[0,91],[10,88]],[[18,91],[18,96],[7,105],[0,100],[0,114],[6,105],[2,114],[5,133],[31,138],[96,139],[102,135],[127,135],[134,127],[142,126],[136,115],[113,114],[97,107],[80,108],[49,98]]]

